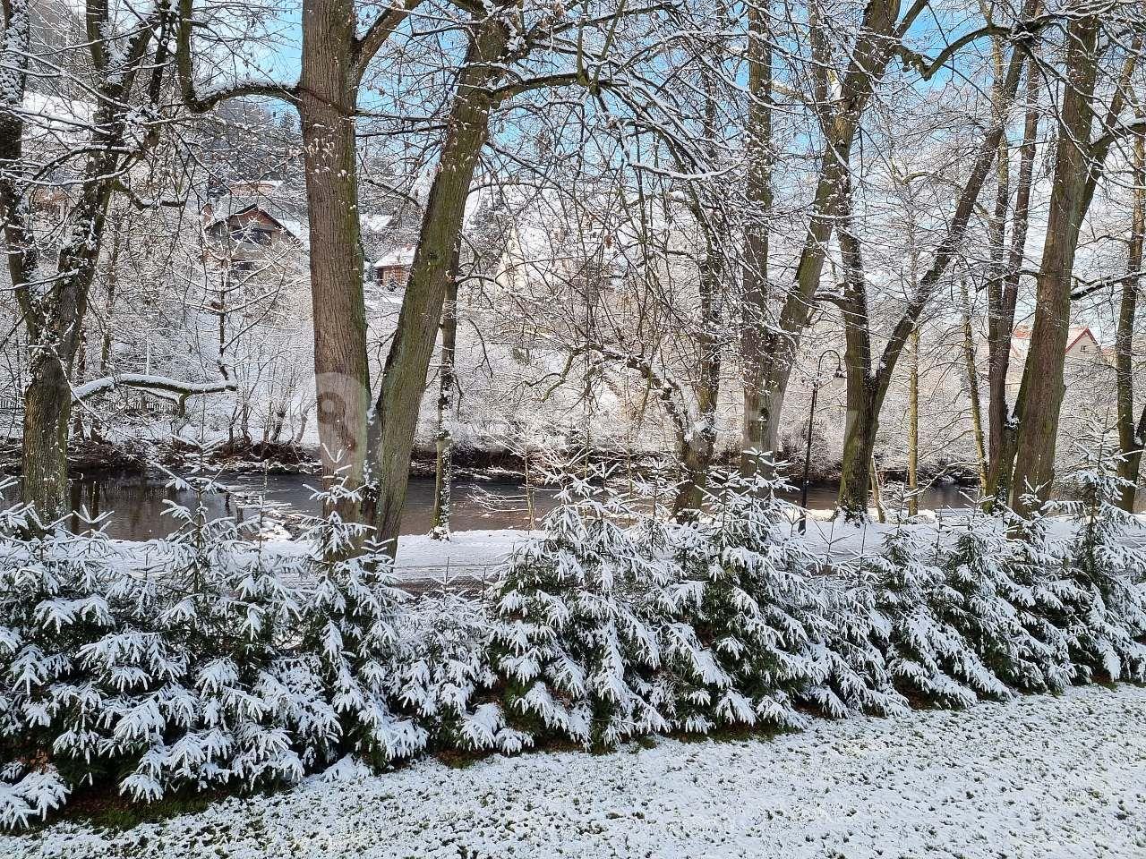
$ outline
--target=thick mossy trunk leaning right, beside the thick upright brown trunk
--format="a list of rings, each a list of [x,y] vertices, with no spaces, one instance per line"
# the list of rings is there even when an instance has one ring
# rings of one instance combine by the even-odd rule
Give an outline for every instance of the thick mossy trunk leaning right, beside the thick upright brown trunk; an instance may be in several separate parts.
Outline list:
[[[449,262],[488,133],[494,104],[490,87],[502,73],[500,62],[509,37],[503,18],[486,18],[466,52],[371,418],[371,480],[377,482],[378,491],[369,513],[378,538],[392,552],[397,549],[414,431],[449,282]]]

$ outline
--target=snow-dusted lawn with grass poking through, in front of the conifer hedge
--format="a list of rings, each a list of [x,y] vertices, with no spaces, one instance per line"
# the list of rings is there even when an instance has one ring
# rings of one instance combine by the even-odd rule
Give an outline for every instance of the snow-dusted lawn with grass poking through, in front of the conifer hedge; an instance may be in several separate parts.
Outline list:
[[[818,723],[775,741],[425,762],[3,857],[1146,857],[1146,688]]]

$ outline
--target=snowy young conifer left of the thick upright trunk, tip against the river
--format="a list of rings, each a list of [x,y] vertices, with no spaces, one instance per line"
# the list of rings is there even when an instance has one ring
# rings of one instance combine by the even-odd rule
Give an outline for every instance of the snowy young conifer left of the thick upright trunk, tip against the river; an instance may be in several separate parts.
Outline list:
[[[152,647],[179,654],[183,664],[139,706],[141,716],[155,717],[131,723],[142,754],[121,786],[155,801],[182,787],[295,782],[314,755],[298,738],[296,701],[278,676],[301,616],[300,594],[259,539],[230,518],[207,519],[205,496],[219,487],[204,478],[174,482],[196,504],[168,502],[180,527],[158,573],[162,610],[139,623],[150,622]]]

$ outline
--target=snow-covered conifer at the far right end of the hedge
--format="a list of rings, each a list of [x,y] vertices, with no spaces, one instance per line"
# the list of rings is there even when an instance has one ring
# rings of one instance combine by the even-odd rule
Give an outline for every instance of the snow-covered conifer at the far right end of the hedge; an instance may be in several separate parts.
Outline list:
[[[1054,620],[1083,681],[1146,680],[1146,552],[1127,541],[1140,525],[1117,504],[1125,481],[1115,465],[1102,444],[1084,450],[1074,473],[1078,499],[1061,505],[1077,523],[1069,546],[1076,590]]]

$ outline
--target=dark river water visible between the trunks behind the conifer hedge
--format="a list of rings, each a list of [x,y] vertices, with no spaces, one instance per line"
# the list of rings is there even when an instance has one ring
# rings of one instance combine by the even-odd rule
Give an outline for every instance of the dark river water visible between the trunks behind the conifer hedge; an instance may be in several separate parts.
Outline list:
[[[227,474],[219,478],[229,494],[209,495],[204,503],[209,517],[233,515],[246,520],[258,515],[260,499],[265,499],[269,522],[293,530],[300,515],[319,513],[312,498],[312,487],[319,484],[316,475]],[[809,488],[808,506],[832,507],[835,487],[824,484]],[[920,509],[965,507],[968,490],[958,486],[937,486],[920,497]],[[18,489],[10,486],[0,490],[0,501],[10,503],[18,498]],[[799,492],[790,498],[799,502]],[[108,514],[104,526],[109,536],[119,539],[148,539],[162,537],[174,530],[171,517],[164,515],[167,503],[194,506],[195,497],[187,490],[176,490],[156,475],[120,474],[84,476],[71,482],[71,509],[86,510],[89,517]],[[886,499],[889,507],[897,505]],[[554,492],[535,490],[534,515],[541,517],[552,509]],[[507,475],[465,476],[458,479],[453,491],[454,530],[528,528],[529,511],[525,489],[519,479]],[[410,478],[402,514],[402,534],[425,534],[430,529],[433,509],[433,479]],[[72,528],[83,529],[83,520],[73,517]]]

